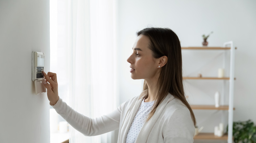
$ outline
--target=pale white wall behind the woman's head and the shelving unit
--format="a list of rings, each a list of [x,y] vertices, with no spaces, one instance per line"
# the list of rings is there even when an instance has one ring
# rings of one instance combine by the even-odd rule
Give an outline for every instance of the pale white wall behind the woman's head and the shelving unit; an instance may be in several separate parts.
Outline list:
[[[234,107],[236,110],[234,111],[234,121],[252,119],[255,122],[256,114],[253,112],[256,110],[256,96],[253,90],[256,85],[255,6],[256,1],[254,0],[119,1],[117,47],[119,49],[118,82],[120,103],[139,95],[142,90],[142,81],[130,78],[130,64],[126,61],[132,52],[132,46],[138,30],[151,26],[169,27],[179,36],[183,47],[201,46],[203,42],[202,35],[213,31],[214,33],[208,38],[208,46],[223,46],[224,42],[232,40],[234,46],[238,48],[235,55]],[[218,53],[215,54],[218,55]],[[183,62],[189,61],[191,55],[194,55],[193,51],[184,53]],[[210,56],[214,57],[214,55]],[[200,62],[198,64],[203,65]],[[218,67],[219,65],[215,66]],[[196,70],[196,68],[188,67],[188,64],[183,64],[183,74],[189,74]],[[210,71],[204,70],[203,72],[204,74],[213,74]],[[211,96],[209,97],[209,99],[212,99],[210,102],[214,103],[214,91],[201,91],[201,89],[209,89],[209,85],[191,80],[185,84],[192,85],[191,87],[195,86],[194,89],[186,87],[186,94],[193,93],[190,96],[192,103],[203,104],[205,102],[205,98],[196,96],[197,94],[202,94],[201,92],[209,94],[205,96]],[[215,82],[215,84],[219,86],[222,83]],[[196,87],[198,85],[201,87]],[[216,87],[215,90],[219,90],[219,87]],[[211,112],[211,114],[214,113]],[[209,112],[202,111],[201,114],[196,116],[211,116],[206,114],[209,114]],[[220,111],[212,115],[215,118],[207,119],[211,130],[218,123],[218,121],[215,121],[219,116],[218,114],[227,115],[227,111]],[[198,123],[199,126],[208,124],[202,120],[198,120]],[[210,132],[210,129],[205,128],[203,131]]]

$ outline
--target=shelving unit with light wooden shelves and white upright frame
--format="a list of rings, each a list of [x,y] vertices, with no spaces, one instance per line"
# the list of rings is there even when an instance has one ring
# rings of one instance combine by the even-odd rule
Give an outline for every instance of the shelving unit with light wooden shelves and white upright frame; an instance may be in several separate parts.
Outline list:
[[[227,47],[230,46],[230,47]],[[215,136],[213,133],[200,133],[194,137],[194,139],[213,139],[213,140],[227,140],[227,143],[233,142],[233,110],[234,104],[234,62],[235,62],[235,49],[233,47],[233,42],[225,42],[223,47],[181,47],[181,50],[230,50],[230,69],[229,77],[183,77],[183,80],[224,80],[229,81],[229,102],[228,105],[220,105],[215,107],[215,105],[191,105],[193,110],[227,110],[228,111],[228,134],[222,137]],[[225,61],[225,55],[223,60]],[[225,62],[224,62],[225,63]],[[225,64],[223,64],[225,69]],[[224,93],[224,92],[223,92]]]

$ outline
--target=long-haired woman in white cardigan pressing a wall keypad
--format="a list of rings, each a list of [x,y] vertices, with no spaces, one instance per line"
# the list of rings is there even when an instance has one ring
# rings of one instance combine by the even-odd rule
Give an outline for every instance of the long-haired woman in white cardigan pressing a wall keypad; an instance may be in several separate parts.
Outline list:
[[[144,79],[139,96],[108,115],[91,119],[59,98],[55,73],[43,72],[50,104],[87,136],[119,129],[118,143],[192,143],[196,120],[184,95],[178,36],[168,28],[145,28],[137,36],[127,62],[131,78]]]

